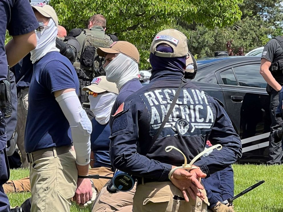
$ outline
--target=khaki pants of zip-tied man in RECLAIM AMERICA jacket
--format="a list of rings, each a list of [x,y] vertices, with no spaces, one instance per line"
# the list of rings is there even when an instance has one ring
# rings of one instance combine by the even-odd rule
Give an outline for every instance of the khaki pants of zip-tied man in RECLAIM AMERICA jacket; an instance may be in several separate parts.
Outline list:
[[[206,192],[202,190],[203,194]],[[199,197],[197,200],[189,197],[189,202],[185,200],[175,200],[173,197],[177,195],[184,197],[181,190],[175,187],[171,182],[150,182],[137,186],[134,195],[134,212],[207,212],[207,197],[202,201]]]

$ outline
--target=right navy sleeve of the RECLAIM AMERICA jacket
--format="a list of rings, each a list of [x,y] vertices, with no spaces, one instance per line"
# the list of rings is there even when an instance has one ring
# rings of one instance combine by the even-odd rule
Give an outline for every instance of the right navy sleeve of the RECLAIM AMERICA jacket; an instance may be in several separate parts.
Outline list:
[[[242,156],[242,143],[231,123],[229,116],[218,100],[210,97],[212,108],[215,109],[216,118],[209,136],[211,144],[221,144],[220,151],[213,151],[209,156],[202,157],[195,162],[207,174],[213,174],[233,164]]]

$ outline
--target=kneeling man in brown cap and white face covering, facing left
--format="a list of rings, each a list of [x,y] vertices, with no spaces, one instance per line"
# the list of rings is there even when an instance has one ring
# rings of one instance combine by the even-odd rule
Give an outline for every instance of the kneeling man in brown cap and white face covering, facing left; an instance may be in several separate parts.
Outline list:
[[[142,87],[138,80],[140,54],[138,49],[127,41],[114,42],[110,48],[98,48],[97,54],[105,57],[106,79],[115,82],[119,89],[109,121],[111,129],[112,117],[123,107],[126,98]],[[97,198],[98,200],[94,202],[92,211],[131,211],[135,191],[136,186],[131,191],[122,194],[110,194],[104,187]]]

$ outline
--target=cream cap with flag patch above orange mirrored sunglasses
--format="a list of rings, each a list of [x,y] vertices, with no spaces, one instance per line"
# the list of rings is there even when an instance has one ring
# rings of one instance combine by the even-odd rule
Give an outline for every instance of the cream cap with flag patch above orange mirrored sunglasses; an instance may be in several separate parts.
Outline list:
[[[106,76],[100,76],[100,77],[94,78],[91,84],[84,87],[82,90],[92,91],[95,93],[102,93],[105,91],[116,93],[116,94],[119,93],[116,83],[107,81]]]

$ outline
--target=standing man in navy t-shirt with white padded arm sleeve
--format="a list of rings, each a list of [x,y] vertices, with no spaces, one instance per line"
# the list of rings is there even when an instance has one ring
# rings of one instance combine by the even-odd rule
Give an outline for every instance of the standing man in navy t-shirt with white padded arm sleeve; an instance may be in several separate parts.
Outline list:
[[[72,197],[77,204],[92,199],[87,178],[92,127],[77,96],[76,71],[56,48],[57,15],[45,3],[32,7],[40,26],[37,48],[31,51],[33,76],[25,129],[31,211],[70,211]],[[75,152],[70,151],[72,142]]]

